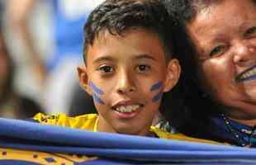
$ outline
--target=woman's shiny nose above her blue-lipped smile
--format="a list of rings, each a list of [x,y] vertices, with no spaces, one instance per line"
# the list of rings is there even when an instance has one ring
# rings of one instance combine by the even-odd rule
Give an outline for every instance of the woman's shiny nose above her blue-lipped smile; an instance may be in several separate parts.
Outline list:
[[[249,41],[241,41],[235,47],[234,63],[240,66],[249,66],[255,63],[256,59],[256,45],[252,45]]]

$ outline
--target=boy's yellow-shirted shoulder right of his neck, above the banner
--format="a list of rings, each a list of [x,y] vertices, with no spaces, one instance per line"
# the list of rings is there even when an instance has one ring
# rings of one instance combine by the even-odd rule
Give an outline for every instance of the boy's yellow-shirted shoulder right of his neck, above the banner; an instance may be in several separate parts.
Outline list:
[[[182,141],[189,141],[189,142],[196,142],[196,143],[220,144],[216,141],[211,141],[207,139],[197,139],[197,138],[186,136],[185,134],[167,132],[156,126],[151,126],[150,130],[155,134],[157,134],[160,139],[174,139],[174,140],[182,140]]]

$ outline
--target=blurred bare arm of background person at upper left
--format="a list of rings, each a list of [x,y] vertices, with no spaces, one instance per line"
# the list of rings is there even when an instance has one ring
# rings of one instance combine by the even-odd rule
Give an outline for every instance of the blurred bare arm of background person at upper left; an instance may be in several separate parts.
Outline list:
[[[36,73],[36,77],[43,85],[45,82],[45,64],[40,59],[33,40],[31,31],[28,28],[30,14],[38,0],[8,0],[7,2],[7,24],[14,34],[20,35],[22,43],[26,47],[30,61],[29,66]]]

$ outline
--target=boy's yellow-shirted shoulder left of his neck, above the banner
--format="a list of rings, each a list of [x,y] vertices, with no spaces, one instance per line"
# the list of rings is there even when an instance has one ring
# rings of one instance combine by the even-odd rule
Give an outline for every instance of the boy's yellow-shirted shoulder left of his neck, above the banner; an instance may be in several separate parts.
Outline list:
[[[94,130],[97,125],[97,114],[86,114],[69,117],[66,114],[45,115],[38,113],[33,117],[40,124],[67,126],[74,129]]]

